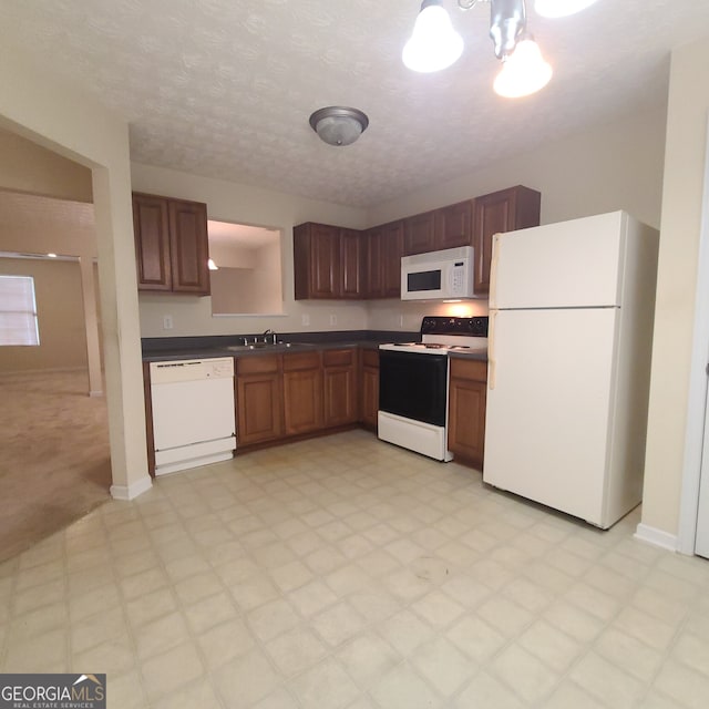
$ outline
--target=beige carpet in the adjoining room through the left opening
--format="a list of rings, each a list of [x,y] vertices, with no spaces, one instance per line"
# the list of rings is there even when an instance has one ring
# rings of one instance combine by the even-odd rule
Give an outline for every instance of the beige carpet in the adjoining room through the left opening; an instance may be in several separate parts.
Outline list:
[[[109,496],[106,403],[84,371],[0,374],[0,562]]]

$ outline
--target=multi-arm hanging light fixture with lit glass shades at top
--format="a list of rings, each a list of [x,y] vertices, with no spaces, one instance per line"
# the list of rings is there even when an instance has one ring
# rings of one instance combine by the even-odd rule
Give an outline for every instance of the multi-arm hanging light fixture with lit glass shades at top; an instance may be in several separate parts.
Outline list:
[[[557,18],[579,12],[597,0],[536,0],[535,11]],[[508,99],[526,96],[543,89],[552,79],[552,66],[544,60],[527,32],[525,0],[458,0],[461,10],[490,3],[490,37],[495,56],[503,63],[493,88]],[[423,0],[411,38],[401,59],[418,72],[446,69],[463,53],[463,40],[443,8],[443,0]]]

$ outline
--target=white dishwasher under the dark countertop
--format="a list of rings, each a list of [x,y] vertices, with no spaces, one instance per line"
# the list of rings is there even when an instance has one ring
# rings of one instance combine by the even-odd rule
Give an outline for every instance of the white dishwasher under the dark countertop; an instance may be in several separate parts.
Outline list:
[[[151,362],[155,474],[233,458],[234,359]]]

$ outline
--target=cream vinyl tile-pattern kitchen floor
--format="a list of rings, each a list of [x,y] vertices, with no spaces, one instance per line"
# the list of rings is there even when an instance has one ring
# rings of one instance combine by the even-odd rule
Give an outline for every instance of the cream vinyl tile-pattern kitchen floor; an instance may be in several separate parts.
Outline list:
[[[158,479],[0,565],[0,671],[115,709],[706,707],[709,562],[351,431]]]

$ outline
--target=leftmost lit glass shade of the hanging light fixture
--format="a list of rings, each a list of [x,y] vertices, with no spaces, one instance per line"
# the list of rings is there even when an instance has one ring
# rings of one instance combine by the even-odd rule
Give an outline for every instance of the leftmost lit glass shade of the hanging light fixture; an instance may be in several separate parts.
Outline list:
[[[424,0],[404,44],[401,59],[412,71],[433,72],[446,69],[463,53],[463,38],[453,29],[451,18],[440,3]]]

